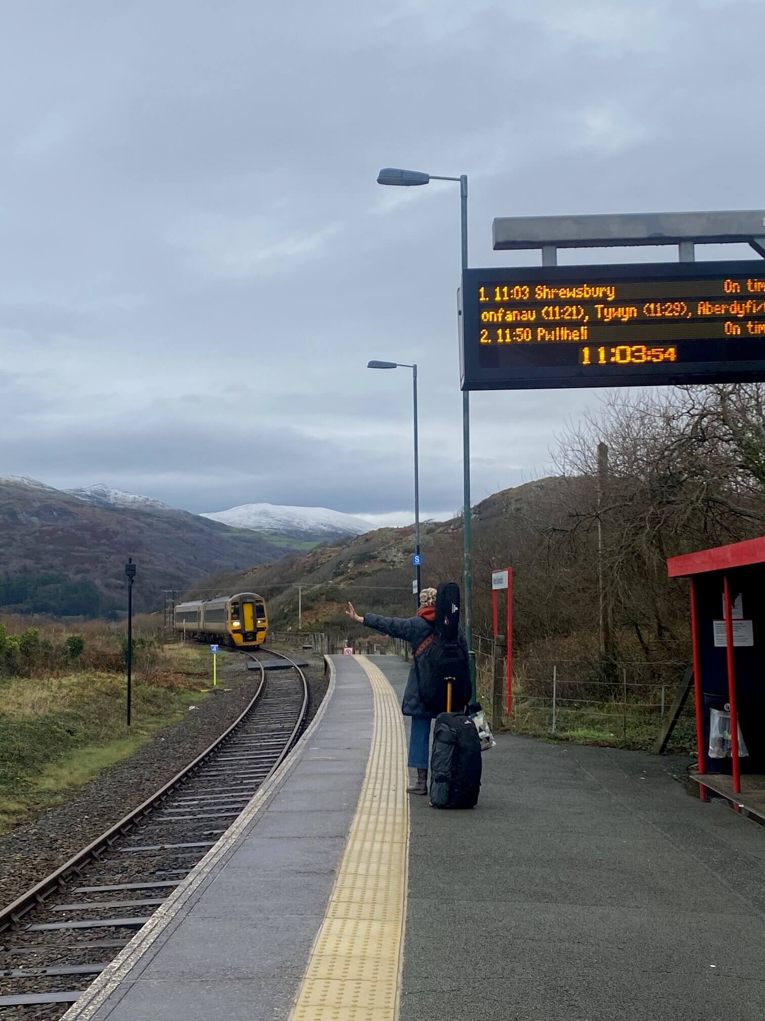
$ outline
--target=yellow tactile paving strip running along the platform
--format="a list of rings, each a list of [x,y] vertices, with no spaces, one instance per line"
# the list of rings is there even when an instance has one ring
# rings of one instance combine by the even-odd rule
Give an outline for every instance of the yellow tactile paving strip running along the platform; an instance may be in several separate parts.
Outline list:
[[[329,904],[292,1021],[393,1021],[404,942],[409,804],[396,693],[356,657],[374,695],[366,774]]]

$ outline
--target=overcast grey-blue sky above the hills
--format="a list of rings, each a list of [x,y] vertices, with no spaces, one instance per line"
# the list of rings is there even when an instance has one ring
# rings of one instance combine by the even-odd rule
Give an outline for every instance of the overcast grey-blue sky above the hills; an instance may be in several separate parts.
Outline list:
[[[473,265],[539,261],[496,215],[757,208],[764,38],[762,0],[1,0],[0,474],[411,519],[387,358],[451,514],[459,188],[377,171],[467,174]],[[597,399],[473,394],[474,501]]]

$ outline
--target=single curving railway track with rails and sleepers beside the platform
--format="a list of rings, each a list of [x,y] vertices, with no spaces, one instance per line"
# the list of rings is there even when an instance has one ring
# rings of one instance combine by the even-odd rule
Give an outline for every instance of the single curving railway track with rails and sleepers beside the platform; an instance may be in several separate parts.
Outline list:
[[[282,652],[238,720],[150,798],[0,911],[0,1021],[53,1021],[234,822],[298,737],[305,674]],[[290,667],[268,671],[264,657]]]

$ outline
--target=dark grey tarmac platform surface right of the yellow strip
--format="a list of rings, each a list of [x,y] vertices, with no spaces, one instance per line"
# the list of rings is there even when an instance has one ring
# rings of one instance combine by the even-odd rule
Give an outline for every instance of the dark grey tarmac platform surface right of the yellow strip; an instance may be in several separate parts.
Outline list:
[[[474,811],[412,797],[402,1021],[762,1021],[765,829],[673,758],[500,734]]]

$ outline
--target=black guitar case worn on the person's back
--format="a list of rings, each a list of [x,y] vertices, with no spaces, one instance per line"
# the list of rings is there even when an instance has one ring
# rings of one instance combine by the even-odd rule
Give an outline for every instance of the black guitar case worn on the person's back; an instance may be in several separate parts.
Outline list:
[[[467,653],[458,641],[459,623],[459,585],[453,581],[442,582],[436,594],[432,634],[414,651],[418,694],[431,713],[443,713],[447,708],[447,678],[452,681],[453,708],[461,710],[470,701],[470,667]],[[425,669],[420,670],[418,658],[430,646]]]

